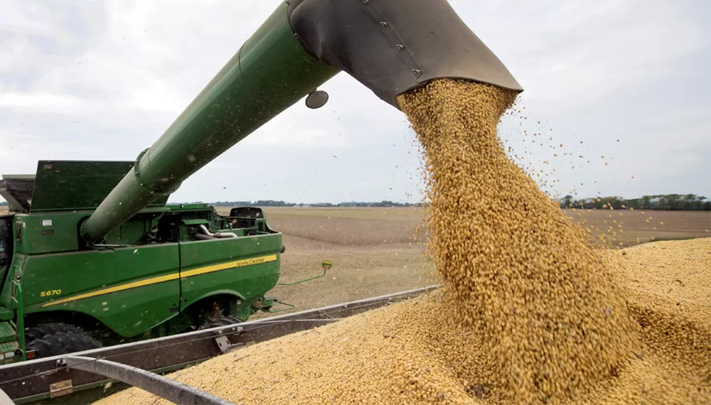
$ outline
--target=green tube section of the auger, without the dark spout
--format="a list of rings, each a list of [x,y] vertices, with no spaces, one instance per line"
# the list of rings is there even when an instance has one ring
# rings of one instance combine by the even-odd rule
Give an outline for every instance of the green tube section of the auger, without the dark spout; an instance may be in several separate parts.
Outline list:
[[[282,3],[82,226],[96,242],[336,75],[306,53]]]

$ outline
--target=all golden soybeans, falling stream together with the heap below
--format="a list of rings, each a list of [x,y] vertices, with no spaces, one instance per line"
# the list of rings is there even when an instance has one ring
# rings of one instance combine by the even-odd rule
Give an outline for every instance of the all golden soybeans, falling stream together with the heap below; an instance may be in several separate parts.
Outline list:
[[[170,377],[235,404],[710,404],[711,239],[593,249],[506,156],[514,99],[448,79],[398,98],[442,288]]]

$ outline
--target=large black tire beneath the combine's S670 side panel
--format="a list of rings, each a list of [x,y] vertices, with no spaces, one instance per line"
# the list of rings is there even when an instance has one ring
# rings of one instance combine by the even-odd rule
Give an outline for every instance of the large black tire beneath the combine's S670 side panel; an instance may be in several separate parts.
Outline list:
[[[26,350],[34,350],[35,358],[67,355],[97,349],[101,343],[74,325],[46,323],[25,330]]]

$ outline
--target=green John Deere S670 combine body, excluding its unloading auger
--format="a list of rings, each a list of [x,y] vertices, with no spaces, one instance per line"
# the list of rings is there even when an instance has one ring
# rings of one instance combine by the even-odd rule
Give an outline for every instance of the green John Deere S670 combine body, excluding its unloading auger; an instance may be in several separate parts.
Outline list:
[[[163,193],[100,239],[81,237],[133,162],[41,161],[0,194],[4,361],[239,323],[270,311],[282,234],[258,207],[217,215]],[[106,232],[106,231],[102,231]],[[24,333],[23,333],[24,331]]]

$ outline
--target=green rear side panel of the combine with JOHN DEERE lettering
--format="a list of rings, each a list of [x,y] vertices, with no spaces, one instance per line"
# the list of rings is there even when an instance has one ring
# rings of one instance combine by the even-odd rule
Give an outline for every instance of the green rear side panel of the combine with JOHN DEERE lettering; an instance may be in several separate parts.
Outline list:
[[[182,242],[181,309],[213,293],[240,296],[247,303],[255,301],[277,284],[281,249],[282,234]],[[234,266],[193,275],[196,270],[209,270],[209,266],[225,262]]]

